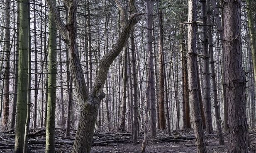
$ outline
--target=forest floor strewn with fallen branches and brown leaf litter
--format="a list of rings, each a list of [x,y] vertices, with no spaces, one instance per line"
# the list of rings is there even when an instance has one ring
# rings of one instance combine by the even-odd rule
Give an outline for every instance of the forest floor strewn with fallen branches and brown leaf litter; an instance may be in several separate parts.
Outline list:
[[[55,152],[71,153],[76,130],[65,137],[65,129],[56,128]],[[32,153],[45,152],[45,128],[32,129],[29,132],[29,148]],[[196,153],[195,135],[191,129],[173,130],[172,136],[167,131],[158,131],[156,139],[148,139],[146,153]],[[94,134],[91,153],[140,153],[144,135],[139,134],[137,145],[132,145],[131,133],[98,132]],[[249,153],[256,153],[256,131],[250,132],[251,146]],[[0,132],[0,153],[12,153],[14,150],[14,130]],[[225,145],[219,145],[216,134],[205,135],[207,153],[227,153]]]

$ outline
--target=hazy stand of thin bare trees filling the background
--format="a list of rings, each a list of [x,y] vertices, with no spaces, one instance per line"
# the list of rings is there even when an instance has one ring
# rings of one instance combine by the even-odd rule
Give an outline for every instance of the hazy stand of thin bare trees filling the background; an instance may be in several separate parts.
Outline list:
[[[24,1],[22,1],[24,2]],[[96,74],[99,72],[102,58],[110,52],[122,32],[122,24],[117,5],[114,1],[108,0],[80,0],[77,5],[76,15],[76,48],[78,49],[79,60],[81,62],[81,73],[84,76],[87,90],[93,91]],[[227,126],[227,103],[223,90],[226,76],[223,61],[223,31],[225,22],[222,23],[222,9],[220,1],[211,0],[197,2],[196,15],[196,54],[193,72],[197,72],[196,81],[199,92],[199,101],[202,105],[200,110],[202,125],[207,127],[207,133],[225,132]],[[69,129],[78,127],[80,104],[79,97],[75,90],[77,83],[71,77],[70,64],[68,59],[68,47],[65,44],[65,37],[61,31],[57,30],[56,41],[56,72],[52,73],[49,65],[51,41],[49,40],[51,28],[49,27],[49,9],[44,0],[30,1],[29,21],[19,21],[19,13],[22,7],[19,2],[1,0],[0,17],[0,127],[2,130],[15,128],[16,123],[26,118],[20,115],[20,106],[27,109],[27,98],[20,105],[20,96],[27,93],[28,69],[31,66],[31,112],[30,127],[46,126],[47,105],[51,103],[48,96],[51,92],[48,77],[56,74],[56,112],[55,127]],[[22,4],[22,3],[21,3]],[[255,4],[247,0],[241,2],[241,61],[239,62],[246,76],[245,101],[246,120],[249,129],[255,128]],[[68,22],[68,6],[63,1],[56,1],[57,12],[63,24]],[[127,4],[124,3],[126,6]],[[140,12],[146,12],[146,3],[137,1]],[[144,121],[156,121],[148,124],[148,129],[171,129],[193,128],[191,103],[188,99],[188,71],[192,69],[188,66],[187,52],[190,45],[188,39],[188,5],[183,1],[161,0],[153,2],[152,14],[152,46],[148,46],[147,41],[147,18],[142,16],[139,23],[134,26],[130,39],[126,43],[125,49],[113,60],[109,67],[105,86],[102,87],[106,93],[106,98],[99,104],[98,118],[95,130],[97,131],[119,131],[126,130],[133,132],[136,138],[137,131],[144,130]],[[206,5],[206,6],[205,6]],[[206,8],[205,8],[206,7]],[[134,11],[127,5],[127,13]],[[206,12],[205,12],[206,9]],[[28,11],[28,9],[27,9]],[[206,14],[205,14],[206,13]],[[24,17],[24,16],[22,16]],[[203,18],[201,18],[203,17]],[[206,17],[206,18],[205,18]],[[26,26],[19,25],[26,22]],[[28,23],[30,24],[28,25]],[[21,29],[26,27],[29,34],[28,39],[31,45],[25,47],[30,50],[31,60],[25,62],[26,65],[18,67],[22,53],[18,54],[18,49],[22,49],[22,41],[19,34]],[[63,41],[64,40],[64,41]],[[28,40],[27,40],[28,41]],[[18,47],[18,44],[20,47]],[[126,52],[125,52],[126,50]],[[150,52],[149,52],[150,50]],[[151,56],[148,56],[149,54]],[[27,53],[25,57],[28,57]],[[149,62],[151,62],[149,64]],[[126,64],[127,63],[127,64]],[[21,66],[21,63],[19,64]],[[24,70],[19,70],[19,69]],[[75,68],[75,67],[73,67]],[[19,73],[24,73],[20,80]],[[127,76],[126,76],[127,73]],[[150,74],[150,75],[149,75]],[[152,76],[151,76],[152,75]],[[205,78],[205,79],[203,79]],[[151,92],[147,91],[148,79],[151,79]],[[191,81],[190,81],[191,82]],[[26,84],[26,85],[25,85]],[[18,86],[17,86],[18,85]],[[9,89],[8,89],[9,88]],[[19,92],[18,92],[19,91]],[[147,93],[148,92],[148,93]],[[146,109],[146,95],[151,96],[148,104],[149,114]],[[202,97],[200,97],[202,94]],[[209,99],[210,96],[210,99]],[[24,97],[22,98],[24,99]],[[17,103],[17,114],[16,114]],[[199,104],[196,104],[199,106]],[[202,109],[204,108],[204,109]],[[155,109],[155,110],[154,110]],[[19,110],[19,111],[18,111]],[[155,111],[155,112],[154,112]],[[25,111],[24,111],[25,112]],[[25,114],[25,113],[24,113]],[[26,112],[27,114],[27,112]],[[225,115],[226,114],[226,115]],[[149,118],[145,116],[149,115]],[[156,118],[156,120],[152,120]],[[205,117],[205,120],[204,120]],[[225,120],[224,120],[225,119]],[[165,122],[164,122],[165,121]],[[192,124],[191,124],[192,123]],[[210,124],[212,123],[212,124]],[[20,121],[25,125],[25,121]],[[149,127],[151,125],[151,128]],[[17,127],[17,126],[16,126]],[[23,128],[20,128],[20,130]],[[214,129],[214,131],[212,131]],[[19,133],[19,132],[17,132]],[[24,134],[22,131],[21,133]],[[154,134],[151,133],[151,134]],[[154,137],[154,135],[153,135]],[[221,137],[221,136],[220,136]],[[22,138],[23,139],[23,138]],[[220,143],[222,141],[220,140]],[[136,139],[134,139],[136,143]],[[22,143],[23,146],[23,143]]]

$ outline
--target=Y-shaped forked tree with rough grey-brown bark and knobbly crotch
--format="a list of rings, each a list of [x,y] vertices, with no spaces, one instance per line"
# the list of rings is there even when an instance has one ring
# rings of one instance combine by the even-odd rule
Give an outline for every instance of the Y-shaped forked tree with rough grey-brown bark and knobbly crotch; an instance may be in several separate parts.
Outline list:
[[[123,24],[122,33],[117,39],[117,42],[113,46],[112,50],[110,50],[110,52],[105,54],[105,56],[102,58],[98,73],[95,77],[95,84],[92,88],[92,91],[89,92],[78,55],[78,45],[76,39],[76,13],[78,0],[64,1],[68,7],[68,21],[66,25],[63,23],[56,7],[54,6],[54,1],[46,0],[46,2],[51,14],[54,17],[54,21],[56,22],[58,29],[63,35],[64,42],[67,44],[71,74],[77,93],[78,103],[80,104],[80,118],[72,152],[78,153],[83,151],[83,153],[89,153],[92,144],[93,131],[97,119],[98,108],[100,101],[105,97],[103,86],[107,78],[108,69],[113,60],[115,60],[115,58],[122,51],[122,48],[129,38],[130,31],[139,21],[139,15],[141,15],[141,13],[131,14],[127,20],[127,14],[124,11],[124,5],[122,2],[117,1],[117,5],[121,13],[121,23]],[[131,2],[134,4],[134,1]],[[135,5],[133,5],[133,7],[136,10]]]

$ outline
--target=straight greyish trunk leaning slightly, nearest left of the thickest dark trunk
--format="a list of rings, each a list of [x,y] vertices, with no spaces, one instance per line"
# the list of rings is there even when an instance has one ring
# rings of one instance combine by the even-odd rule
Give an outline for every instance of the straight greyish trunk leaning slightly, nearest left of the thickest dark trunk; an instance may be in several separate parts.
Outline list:
[[[196,0],[188,1],[188,92],[192,108],[197,153],[206,153],[205,135],[202,127],[202,116],[199,103],[199,86],[197,83],[196,52]]]

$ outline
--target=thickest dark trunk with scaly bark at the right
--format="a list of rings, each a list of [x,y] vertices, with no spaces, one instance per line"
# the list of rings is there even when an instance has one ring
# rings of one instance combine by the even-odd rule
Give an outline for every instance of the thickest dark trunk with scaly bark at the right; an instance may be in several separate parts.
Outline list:
[[[246,79],[242,67],[241,0],[224,0],[224,88],[227,95],[229,153],[247,153]]]

